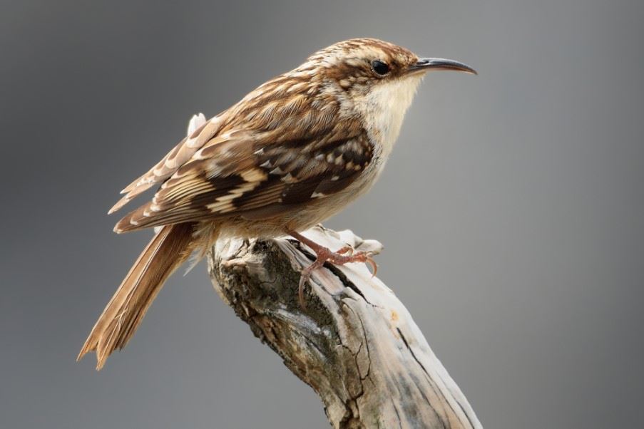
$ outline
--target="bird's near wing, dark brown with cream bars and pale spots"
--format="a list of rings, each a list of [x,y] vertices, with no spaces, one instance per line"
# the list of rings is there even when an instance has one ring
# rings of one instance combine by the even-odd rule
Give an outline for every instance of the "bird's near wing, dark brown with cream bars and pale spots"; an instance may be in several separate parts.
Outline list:
[[[290,138],[233,130],[211,139],[178,168],[152,201],[121,219],[116,232],[270,211],[346,188],[372,161],[367,133],[355,124]],[[342,130],[342,131],[340,131]],[[352,130],[352,131],[347,131]]]

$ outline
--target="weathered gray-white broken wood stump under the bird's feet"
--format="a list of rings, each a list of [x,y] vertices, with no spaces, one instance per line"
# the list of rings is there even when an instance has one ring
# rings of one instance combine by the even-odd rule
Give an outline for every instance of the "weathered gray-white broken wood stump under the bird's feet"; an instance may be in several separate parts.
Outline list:
[[[382,249],[350,231],[305,235],[330,249]],[[314,272],[302,309],[297,283],[312,259],[292,239],[231,240],[208,267],[222,299],[320,395],[334,428],[481,428],[412,316],[364,264]]]

